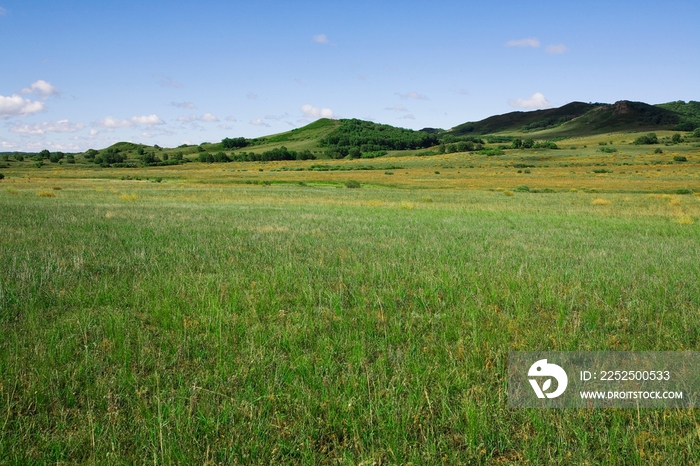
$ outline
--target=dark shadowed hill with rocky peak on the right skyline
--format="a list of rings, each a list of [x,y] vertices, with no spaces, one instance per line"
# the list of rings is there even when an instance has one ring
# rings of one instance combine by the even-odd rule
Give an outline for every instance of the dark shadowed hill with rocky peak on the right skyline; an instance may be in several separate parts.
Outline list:
[[[698,102],[649,105],[621,100],[614,104],[572,102],[559,108],[511,112],[450,131],[457,136],[494,133],[531,133],[532,137],[572,137],[612,132],[686,130],[700,126]]]

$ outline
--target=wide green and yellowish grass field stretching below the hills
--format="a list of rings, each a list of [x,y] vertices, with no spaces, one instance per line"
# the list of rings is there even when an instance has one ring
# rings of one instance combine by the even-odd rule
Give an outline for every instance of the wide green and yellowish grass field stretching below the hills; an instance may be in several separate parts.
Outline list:
[[[698,463],[694,410],[507,406],[509,351],[700,345],[700,151],[620,138],[13,163],[0,463]]]

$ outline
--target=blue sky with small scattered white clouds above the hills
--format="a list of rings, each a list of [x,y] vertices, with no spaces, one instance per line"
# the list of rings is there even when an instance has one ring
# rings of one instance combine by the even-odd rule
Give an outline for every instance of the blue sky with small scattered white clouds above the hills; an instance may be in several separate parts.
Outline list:
[[[700,2],[0,0],[0,152],[700,100]]]

